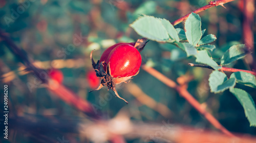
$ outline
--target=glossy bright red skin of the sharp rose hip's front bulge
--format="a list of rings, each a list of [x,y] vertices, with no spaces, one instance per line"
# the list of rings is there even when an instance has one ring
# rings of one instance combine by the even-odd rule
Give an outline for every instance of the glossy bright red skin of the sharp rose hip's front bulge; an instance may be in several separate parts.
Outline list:
[[[141,55],[134,46],[120,44],[110,52],[106,64],[109,64],[114,78],[133,76],[140,68]]]

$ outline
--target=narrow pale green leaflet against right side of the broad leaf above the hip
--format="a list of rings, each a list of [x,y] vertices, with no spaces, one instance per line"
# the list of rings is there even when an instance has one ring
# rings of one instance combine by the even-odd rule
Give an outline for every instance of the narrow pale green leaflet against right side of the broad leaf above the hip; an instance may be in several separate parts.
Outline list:
[[[159,18],[160,19],[160,18]],[[166,19],[160,19],[162,21],[163,26],[165,27],[166,31],[168,32],[169,36],[179,42],[179,36],[177,31],[175,30],[174,26]]]

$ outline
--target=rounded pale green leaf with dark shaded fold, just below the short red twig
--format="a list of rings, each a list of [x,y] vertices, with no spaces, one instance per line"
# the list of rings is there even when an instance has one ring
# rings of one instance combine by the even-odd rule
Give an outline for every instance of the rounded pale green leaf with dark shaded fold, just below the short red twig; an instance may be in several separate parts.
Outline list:
[[[209,77],[210,92],[220,93],[236,85],[236,78],[227,79],[226,74],[220,71],[213,71]]]

